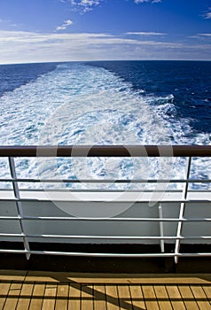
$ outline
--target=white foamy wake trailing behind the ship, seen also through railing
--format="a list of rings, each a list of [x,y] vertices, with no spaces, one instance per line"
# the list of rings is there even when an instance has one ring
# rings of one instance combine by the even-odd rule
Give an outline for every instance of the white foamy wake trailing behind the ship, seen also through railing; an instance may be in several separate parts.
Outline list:
[[[192,135],[188,120],[174,118],[172,94],[141,97],[117,75],[76,63],[59,65],[55,71],[4,94],[0,110],[2,145],[210,143],[206,134]],[[210,170],[203,174],[207,160],[197,159],[192,175],[210,177]],[[16,159],[16,164],[20,177],[80,180],[181,178],[185,166],[184,159],[113,158],[42,159],[39,165],[36,159]],[[2,177],[8,177],[5,161],[0,162],[0,171]],[[106,186],[114,189],[125,185],[104,184],[103,188]],[[90,188],[88,184],[81,187]]]

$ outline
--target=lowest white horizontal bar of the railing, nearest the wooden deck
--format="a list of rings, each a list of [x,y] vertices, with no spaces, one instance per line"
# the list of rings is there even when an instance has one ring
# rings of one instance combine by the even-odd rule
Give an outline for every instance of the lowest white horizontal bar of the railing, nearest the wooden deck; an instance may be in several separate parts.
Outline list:
[[[65,255],[65,256],[90,256],[90,257],[125,257],[125,258],[141,258],[141,257],[204,257],[211,256],[211,252],[196,252],[196,253],[99,253],[99,252],[59,252],[59,251],[26,251],[26,250],[4,250],[0,253],[20,253],[20,254],[45,254],[45,255]]]

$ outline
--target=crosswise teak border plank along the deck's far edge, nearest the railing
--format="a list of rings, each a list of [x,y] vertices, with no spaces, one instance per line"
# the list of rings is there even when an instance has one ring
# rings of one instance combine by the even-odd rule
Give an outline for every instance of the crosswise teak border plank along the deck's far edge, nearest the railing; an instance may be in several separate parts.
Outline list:
[[[25,272],[19,272],[19,275],[12,275],[11,270],[0,270],[0,280],[24,279]],[[67,272],[49,272],[49,271],[31,271],[26,275],[28,281],[54,282],[54,283],[134,283],[134,284],[211,284],[211,274],[82,274]]]

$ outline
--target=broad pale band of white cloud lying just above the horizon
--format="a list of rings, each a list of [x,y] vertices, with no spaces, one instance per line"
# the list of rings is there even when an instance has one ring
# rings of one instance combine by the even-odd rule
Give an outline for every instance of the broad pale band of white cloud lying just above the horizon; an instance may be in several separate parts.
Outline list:
[[[0,63],[112,59],[210,59],[211,44],[137,40],[104,33],[0,31]]]

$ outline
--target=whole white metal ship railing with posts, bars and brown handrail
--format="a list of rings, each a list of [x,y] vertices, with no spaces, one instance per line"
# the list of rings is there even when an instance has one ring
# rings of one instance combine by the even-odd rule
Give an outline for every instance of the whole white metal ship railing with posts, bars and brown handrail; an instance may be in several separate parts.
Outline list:
[[[127,148],[124,146],[95,146],[90,148],[90,146],[79,146],[78,148],[74,147],[74,153],[72,147],[0,147],[0,156],[1,157],[8,157],[9,160],[9,167],[10,167],[10,178],[1,178],[0,182],[11,182],[12,183],[12,195],[13,197],[0,197],[0,203],[3,202],[14,202],[16,204],[16,215],[15,216],[3,216],[0,211],[0,221],[19,221],[20,225],[20,233],[4,233],[0,231],[0,239],[7,237],[10,238],[11,241],[14,238],[20,238],[24,244],[24,250],[16,250],[16,249],[0,249],[0,252],[8,252],[8,253],[26,253],[27,259],[29,259],[31,254],[52,254],[52,255],[82,255],[82,256],[104,256],[104,257],[174,257],[175,262],[177,263],[178,258],[182,256],[211,256],[211,252],[180,252],[180,245],[181,241],[187,240],[187,241],[194,241],[194,240],[207,240],[208,244],[211,244],[211,224],[210,224],[210,230],[208,231],[207,236],[183,236],[183,225],[184,222],[201,222],[203,223],[209,223],[211,221],[211,200],[210,195],[207,195],[209,193],[209,190],[205,190],[203,193],[203,198],[189,198],[189,184],[190,183],[210,183],[210,179],[191,179],[190,178],[190,171],[191,171],[191,157],[211,157],[211,147],[209,146],[174,146],[171,150],[171,156],[183,156],[187,158],[187,167],[186,167],[186,175],[184,179],[174,179],[174,180],[114,180],[116,183],[125,183],[125,182],[131,182],[131,183],[154,183],[154,182],[175,182],[175,183],[182,183],[184,184],[184,190],[182,192],[181,198],[160,198],[159,201],[154,201],[158,207],[158,214],[159,217],[157,218],[150,218],[150,217],[73,217],[73,216],[53,216],[50,214],[50,216],[27,216],[24,213],[22,203],[23,202],[37,202],[37,198],[21,198],[21,190],[19,187],[20,182],[61,182],[60,179],[35,179],[35,178],[18,178],[16,174],[16,167],[15,167],[15,161],[14,157],[35,157],[35,156],[43,156],[43,157],[51,157],[55,156],[55,148],[57,148],[57,154],[56,156],[60,157],[86,157],[86,156],[103,156],[103,157],[159,157],[161,156],[169,156],[168,147],[167,146],[128,146]],[[157,149],[156,149],[157,148]],[[76,149],[76,151],[75,151]],[[39,150],[39,151],[37,151]],[[42,151],[40,151],[42,150]],[[129,151],[128,151],[129,150]],[[143,151],[144,150],[144,151]],[[160,151],[161,150],[161,151]],[[205,167],[206,169],[206,167]],[[62,182],[68,183],[77,183],[77,182],[90,182],[90,183],[109,183],[113,182],[113,180],[69,180],[69,179],[63,179]],[[68,189],[68,191],[74,191]],[[82,190],[84,192],[84,190]],[[88,190],[90,192],[98,192],[99,190]],[[100,191],[108,191],[111,190],[100,190]],[[117,191],[118,190],[114,190]],[[120,190],[121,191],[121,190]],[[133,190],[129,190],[133,192]],[[137,190],[135,190],[137,191]],[[1,193],[0,193],[1,194]],[[42,201],[42,198],[39,199],[39,201]],[[46,201],[46,200],[44,200]],[[148,202],[147,199],[142,199],[141,201],[138,201],[140,203],[146,203]],[[179,216],[178,217],[163,217],[163,204],[166,203],[179,203]],[[199,207],[201,204],[207,204],[207,210],[208,210],[208,216],[205,217],[184,217],[184,211],[185,211],[185,205],[187,203],[198,203]],[[199,211],[200,213],[200,211]],[[210,215],[209,215],[210,214]],[[157,222],[159,223],[159,229],[160,229],[160,236],[102,236],[98,235],[98,232],[96,235],[59,235],[59,234],[28,234],[27,229],[25,227],[25,221],[105,221],[105,222]],[[164,229],[164,223],[167,222],[175,222],[177,225],[176,228],[176,236],[166,236],[165,235],[165,229]],[[83,240],[96,240],[96,239],[104,239],[104,240],[122,240],[122,243],[127,242],[127,240],[139,240],[140,243],[142,241],[154,241],[154,242],[160,242],[160,252],[154,252],[154,253],[101,253],[101,252],[61,252],[61,251],[35,251],[30,249],[30,242],[32,239],[68,239],[70,242],[73,239],[83,239]],[[30,242],[29,242],[30,240]],[[166,252],[165,250],[165,242],[167,241],[173,241],[175,242],[175,250],[174,252]]]

